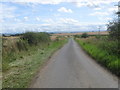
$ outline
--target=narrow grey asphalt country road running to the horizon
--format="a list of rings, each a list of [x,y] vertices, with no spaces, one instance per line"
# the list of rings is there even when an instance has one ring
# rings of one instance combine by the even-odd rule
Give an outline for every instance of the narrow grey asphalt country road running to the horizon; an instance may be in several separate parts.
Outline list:
[[[118,80],[70,39],[40,71],[32,88],[118,88]]]

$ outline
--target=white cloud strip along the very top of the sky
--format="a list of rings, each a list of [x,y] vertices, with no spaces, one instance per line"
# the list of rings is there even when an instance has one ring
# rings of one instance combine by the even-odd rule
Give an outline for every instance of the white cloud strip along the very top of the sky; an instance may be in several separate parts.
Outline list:
[[[75,4],[77,7],[101,7],[103,4],[108,5],[113,2],[118,2],[119,0],[0,0],[1,2],[15,2],[24,4],[27,3],[31,7],[34,7],[34,4],[60,4],[63,2],[69,2]]]

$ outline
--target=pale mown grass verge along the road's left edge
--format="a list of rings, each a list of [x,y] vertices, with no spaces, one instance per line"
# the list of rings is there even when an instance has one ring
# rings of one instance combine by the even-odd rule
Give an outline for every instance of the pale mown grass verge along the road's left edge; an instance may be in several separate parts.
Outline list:
[[[9,63],[11,67],[3,72],[3,88],[27,88],[39,67],[67,40],[51,42],[44,49],[37,49],[34,54]]]

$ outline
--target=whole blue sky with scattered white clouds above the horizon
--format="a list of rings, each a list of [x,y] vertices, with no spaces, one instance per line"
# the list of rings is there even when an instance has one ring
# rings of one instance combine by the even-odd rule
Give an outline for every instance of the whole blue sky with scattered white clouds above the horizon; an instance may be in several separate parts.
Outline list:
[[[106,30],[119,0],[0,0],[0,33]]]

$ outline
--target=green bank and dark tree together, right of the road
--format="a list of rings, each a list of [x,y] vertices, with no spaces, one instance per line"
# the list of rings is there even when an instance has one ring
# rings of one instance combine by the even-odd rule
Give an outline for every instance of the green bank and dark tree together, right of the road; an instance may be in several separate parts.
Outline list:
[[[107,36],[96,35],[88,38],[75,36],[75,38],[98,63],[120,77],[120,29],[118,28],[120,24],[113,21],[108,24]]]

